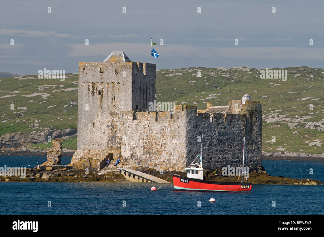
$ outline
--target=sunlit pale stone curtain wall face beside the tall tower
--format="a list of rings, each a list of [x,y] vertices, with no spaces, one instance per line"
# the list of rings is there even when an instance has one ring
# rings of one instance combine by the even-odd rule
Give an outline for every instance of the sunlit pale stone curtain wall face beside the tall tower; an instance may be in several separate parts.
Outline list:
[[[181,105],[176,106],[173,114],[137,112],[135,120],[133,111],[125,111],[122,120],[121,154],[128,165],[157,170],[186,167],[186,111],[182,111]]]

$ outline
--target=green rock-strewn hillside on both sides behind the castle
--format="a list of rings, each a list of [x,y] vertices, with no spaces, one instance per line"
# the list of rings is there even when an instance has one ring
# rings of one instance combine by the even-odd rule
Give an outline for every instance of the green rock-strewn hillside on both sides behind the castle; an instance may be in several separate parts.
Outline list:
[[[205,109],[207,102],[227,105],[229,100],[249,94],[262,103],[264,151],[322,153],[324,70],[285,69],[287,81],[260,79],[260,70],[249,67],[157,70],[156,100]],[[197,77],[199,71],[201,77]],[[1,79],[0,135],[47,127],[76,128],[78,75],[66,76],[65,81],[38,79],[37,75]]]

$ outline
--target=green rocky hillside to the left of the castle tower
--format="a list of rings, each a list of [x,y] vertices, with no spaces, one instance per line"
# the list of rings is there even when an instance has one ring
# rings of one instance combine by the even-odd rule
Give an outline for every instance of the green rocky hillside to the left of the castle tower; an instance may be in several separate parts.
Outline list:
[[[38,79],[37,75],[3,78],[0,135],[44,128],[76,129],[77,92],[77,74],[66,74],[64,81]]]

